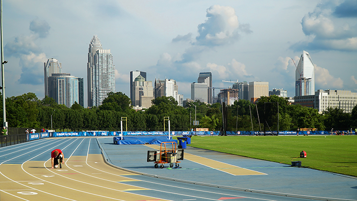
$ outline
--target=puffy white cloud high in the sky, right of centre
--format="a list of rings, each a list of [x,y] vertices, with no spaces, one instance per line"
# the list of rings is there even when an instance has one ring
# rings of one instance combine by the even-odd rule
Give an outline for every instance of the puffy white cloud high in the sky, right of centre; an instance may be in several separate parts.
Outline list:
[[[218,46],[231,44],[239,38],[238,17],[230,6],[213,5],[207,9],[204,23],[198,25],[198,36],[195,45]],[[241,30],[251,33],[249,24]]]

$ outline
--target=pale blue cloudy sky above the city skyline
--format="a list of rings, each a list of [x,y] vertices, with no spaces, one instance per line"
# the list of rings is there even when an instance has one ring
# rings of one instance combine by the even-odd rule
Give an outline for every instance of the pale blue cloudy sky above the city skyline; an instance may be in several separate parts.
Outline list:
[[[129,96],[129,72],[190,83],[212,72],[222,80],[267,81],[294,96],[303,50],[315,67],[315,89],[357,92],[356,0],[3,0],[5,95],[44,97],[44,62],[84,78],[93,35],[111,49],[116,91]],[[216,93],[218,90],[215,91]]]

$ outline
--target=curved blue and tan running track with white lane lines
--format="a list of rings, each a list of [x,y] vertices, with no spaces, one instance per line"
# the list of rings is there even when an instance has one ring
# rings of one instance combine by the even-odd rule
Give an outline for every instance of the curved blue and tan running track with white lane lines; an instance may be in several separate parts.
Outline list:
[[[62,169],[50,169],[50,153],[53,149],[61,149],[64,153],[65,165]],[[152,148],[147,147],[147,150]],[[129,154],[121,156],[118,153],[118,156],[123,159],[135,158]],[[191,156],[191,159],[192,157],[194,156]],[[159,170],[153,167],[151,169]],[[72,137],[47,138],[1,148],[0,200],[306,201],[309,199],[221,189],[135,174],[133,171],[124,171],[106,164],[95,137]]]

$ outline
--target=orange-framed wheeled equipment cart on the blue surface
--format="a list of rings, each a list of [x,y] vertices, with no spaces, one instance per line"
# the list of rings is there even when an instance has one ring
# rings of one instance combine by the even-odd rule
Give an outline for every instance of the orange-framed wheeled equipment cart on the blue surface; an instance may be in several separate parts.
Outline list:
[[[170,167],[179,167],[178,160],[183,160],[183,149],[176,149],[176,142],[162,142],[160,150],[148,151],[148,162],[153,162],[155,168],[164,168],[164,163],[170,163]]]

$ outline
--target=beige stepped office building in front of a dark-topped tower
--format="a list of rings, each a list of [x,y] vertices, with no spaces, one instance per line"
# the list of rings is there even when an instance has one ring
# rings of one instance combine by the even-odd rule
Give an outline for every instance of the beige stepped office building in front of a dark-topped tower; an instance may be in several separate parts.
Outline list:
[[[153,97],[153,81],[145,81],[145,78],[141,75],[137,76],[133,82],[133,102],[134,107],[150,108]]]

